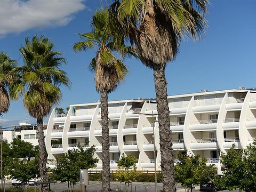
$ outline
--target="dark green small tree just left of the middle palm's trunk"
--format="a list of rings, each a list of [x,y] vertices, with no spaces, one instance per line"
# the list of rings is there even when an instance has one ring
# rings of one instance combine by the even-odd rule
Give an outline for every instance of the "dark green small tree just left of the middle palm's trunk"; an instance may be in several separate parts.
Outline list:
[[[94,146],[84,150],[83,147],[78,149],[68,150],[67,153],[57,158],[57,166],[53,169],[53,177],[60,182],[68,182],[68,187],[71,184],[75,185],[79,181],[81,169],[91,169],[96,167],[99,159],[93,158],[95,152]]]

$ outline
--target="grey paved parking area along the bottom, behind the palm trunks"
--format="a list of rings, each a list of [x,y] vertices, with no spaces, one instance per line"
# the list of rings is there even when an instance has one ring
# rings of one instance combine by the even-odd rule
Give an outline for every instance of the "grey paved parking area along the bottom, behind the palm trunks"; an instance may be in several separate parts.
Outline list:
[[[6,183],[6,187],[11,187],[11,182]],[[35,186],[30,186],[35,187]],[[121,189],[122,191],[125,189],[124,183],[119,182],[110,182],[110,187],[112,190],[118,190]],[[158,191],[160,191],[163,187],[162,183],[157,183]],[[142,183],[142,182],[134,182],[132,183],[132,191],[135,192],[135,188],[137,192],[154,192],[155,191],[155,183]],[[68,189],[67,183],[56,183],[55,186],[52,184],[51,189],[56,192],[61,192]],[[81,189],[80,185],[75,185],[75,189]],[[102,182],[90,182],[90,185],[87,186],[87,191],[90,192],[96,192],[100,191],[102,189]],[[126,189],[128,189],[128,186],[126,186]],[[131,187],[129,188],[129,191],[131,191]],[[185,189],[181,188],[180,185],[177,186],[178,192],[185,192]],[[199,187],[196,187],[195,191],[199,191]],[[225,190],[227,191],[227,190]],[[224,191],[223,191],[224,192]],[[233,190],[233,192],[238,192],[238,190]]]

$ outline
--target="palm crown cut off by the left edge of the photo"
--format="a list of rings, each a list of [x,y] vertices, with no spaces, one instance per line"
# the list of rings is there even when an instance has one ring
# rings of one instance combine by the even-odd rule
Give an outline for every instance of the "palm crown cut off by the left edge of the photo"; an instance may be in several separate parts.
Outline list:
[[[8,87],[12,79],[11,71],[15,66],[15,60],[0,52],[0,116],[6,113],[10,106]]]

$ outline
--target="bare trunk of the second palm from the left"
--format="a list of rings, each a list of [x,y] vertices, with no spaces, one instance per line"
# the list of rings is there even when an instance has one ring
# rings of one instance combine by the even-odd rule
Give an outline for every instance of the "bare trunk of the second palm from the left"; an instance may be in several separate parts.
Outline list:
[[[47,152],[45,148],[42,118],[37,118],[37,132],[38,132],[38,145],[39,145],[39,172],[41,176],[41,182],[46,182],[48,177],[47,168],[46,168]],[[43,192],[47,191],[48,190],[47,184],[42,184],[41,189]]]

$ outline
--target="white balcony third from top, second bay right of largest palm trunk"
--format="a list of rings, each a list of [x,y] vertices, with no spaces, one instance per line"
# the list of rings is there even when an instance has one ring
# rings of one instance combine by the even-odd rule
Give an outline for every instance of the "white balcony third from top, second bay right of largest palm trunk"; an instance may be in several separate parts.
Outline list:
[[[217,145],[217,139],[196,139],[191,141],[190,147],[192,150],[198,150],[198,149],[216,149],[218,147]]]

